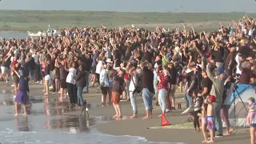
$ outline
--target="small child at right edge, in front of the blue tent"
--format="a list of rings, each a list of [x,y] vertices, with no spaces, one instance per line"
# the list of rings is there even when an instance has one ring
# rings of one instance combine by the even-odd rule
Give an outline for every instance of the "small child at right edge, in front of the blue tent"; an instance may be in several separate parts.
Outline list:
[[[246,118],[246,125],[250,126],[250,144],[255,143],[255,132],[256,132],[256,103],[254,98],[248,99],[249,113]]]

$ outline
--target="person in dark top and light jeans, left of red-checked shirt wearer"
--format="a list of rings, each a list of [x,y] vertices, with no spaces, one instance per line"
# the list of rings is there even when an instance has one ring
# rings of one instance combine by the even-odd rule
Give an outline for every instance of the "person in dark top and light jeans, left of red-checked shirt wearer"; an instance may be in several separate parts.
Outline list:
[[[142,98],[146,108],[146,116],[142,119],[152,118],[152,101],[154,97],[154,73],[148,62],[143,62],[142,68]]]

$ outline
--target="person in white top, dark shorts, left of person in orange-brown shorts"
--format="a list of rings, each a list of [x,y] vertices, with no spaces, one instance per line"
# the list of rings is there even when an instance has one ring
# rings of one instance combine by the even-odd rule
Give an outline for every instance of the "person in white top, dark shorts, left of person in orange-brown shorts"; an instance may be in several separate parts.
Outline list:
[[[99,83],[102,90],[102,106],[106,106],[106,94],[109,87],[109,80],[107,78],[106,65],[102,62],[102,71],[99,74]]]

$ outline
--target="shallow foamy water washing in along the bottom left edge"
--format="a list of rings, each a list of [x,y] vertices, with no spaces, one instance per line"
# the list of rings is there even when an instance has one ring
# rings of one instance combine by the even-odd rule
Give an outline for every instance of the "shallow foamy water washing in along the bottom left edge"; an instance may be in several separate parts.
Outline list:
[[[76,143],[76,144],[185,144],[183,142],[148,142],[146,138],[130,135],[115,136],[110,134],[85,134],[85,133],[70,133],[70,132],[57,132],[57,131],[47,131],[47,132],[19,132],[11,129],[6,129],[6,131],[1,131],[0,139],[2,143],[54,143],[62,144],[65,143]]]

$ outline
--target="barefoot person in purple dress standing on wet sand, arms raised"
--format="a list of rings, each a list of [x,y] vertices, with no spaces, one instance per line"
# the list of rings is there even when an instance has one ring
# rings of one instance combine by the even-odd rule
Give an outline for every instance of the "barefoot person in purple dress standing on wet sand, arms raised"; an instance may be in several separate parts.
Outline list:
[[[14,100],[14,116],[18,115],[18,103],[22,103],[23,106],[23,115],[27,115],[26,112],[26,98],[28,97],[27,93],[29,92],[29,79],[24,74],[24,70],[21,69],[19,72],[15,69],[14,73],[18,75],[19,83],[18,83],[18,93]]]

